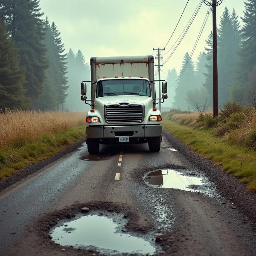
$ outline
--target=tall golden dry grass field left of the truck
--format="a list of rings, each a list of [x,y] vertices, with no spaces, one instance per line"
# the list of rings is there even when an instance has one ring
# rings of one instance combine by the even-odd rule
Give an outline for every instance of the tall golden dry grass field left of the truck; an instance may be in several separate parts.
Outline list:
[[[85,122],[84,112],[10,111],[0,113],[0,148],[30,141],[43,134],[67,131]]]

